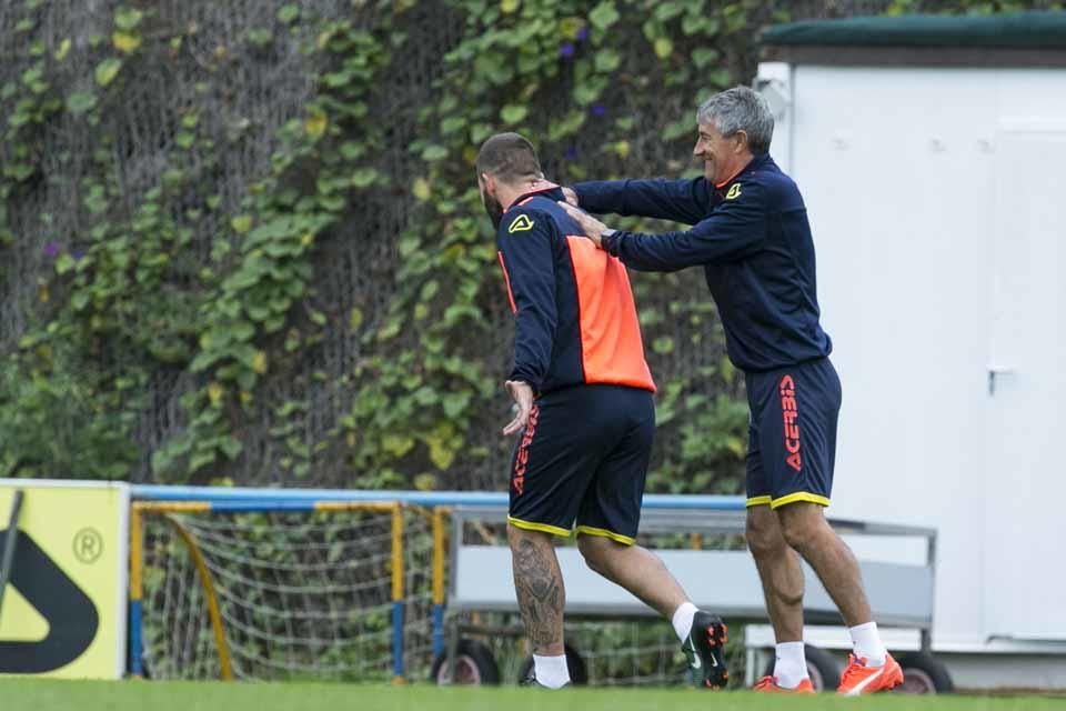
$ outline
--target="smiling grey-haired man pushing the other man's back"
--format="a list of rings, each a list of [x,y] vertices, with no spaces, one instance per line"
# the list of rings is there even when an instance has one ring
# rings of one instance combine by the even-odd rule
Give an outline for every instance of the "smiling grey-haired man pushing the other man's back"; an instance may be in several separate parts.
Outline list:
[[[638,271],[702,266],[745,373],[751,429],[747,544],[777,640],[761,691],[812,690],[803,654],[803,557],[847,623],[854,653],[845,694],[903,682],[863,590],[858,563],[828,525],[841,381],[819,324],[814,241],[792,179],[770,157],[774,118],[746,87],[711,97],[696,114],[695,180],[586,182],[564,191],[586,237]],[[581,209],[577,209],[579,206]],[[609,229],[587,212],[674,220],[690,229],[641,234]]]

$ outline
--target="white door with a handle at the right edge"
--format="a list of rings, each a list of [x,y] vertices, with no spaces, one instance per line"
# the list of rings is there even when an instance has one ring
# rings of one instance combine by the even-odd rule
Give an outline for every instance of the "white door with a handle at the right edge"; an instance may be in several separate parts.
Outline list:
[[[995,164],[984,627],[1066,640],[1066,126],[1000,131]]]

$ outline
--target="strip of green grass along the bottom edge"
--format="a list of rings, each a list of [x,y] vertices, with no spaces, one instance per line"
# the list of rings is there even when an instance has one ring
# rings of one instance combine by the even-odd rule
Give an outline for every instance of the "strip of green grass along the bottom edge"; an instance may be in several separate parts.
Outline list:
[[[430,685],[258,684],[221,682],[90,682],[0,680],[3,711],[653,711],[656,709],[873,709],[1015,711],[1064,709],[1066,699],[1040,697],[903,697],[838,699],[766,697],[698,690],[575,689],[550,692],[516,687],[439,689]]]

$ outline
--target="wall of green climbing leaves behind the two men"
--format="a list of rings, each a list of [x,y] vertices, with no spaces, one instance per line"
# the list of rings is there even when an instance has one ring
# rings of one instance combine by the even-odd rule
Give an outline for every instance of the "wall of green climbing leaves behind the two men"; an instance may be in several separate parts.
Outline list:
[[[771,23],[1058,4],[6,3],[0,477],[502,488],[484,138],[531,137],[557,182],[681,174]],[[634,284],[650,489],[740,491],[698,270]]]

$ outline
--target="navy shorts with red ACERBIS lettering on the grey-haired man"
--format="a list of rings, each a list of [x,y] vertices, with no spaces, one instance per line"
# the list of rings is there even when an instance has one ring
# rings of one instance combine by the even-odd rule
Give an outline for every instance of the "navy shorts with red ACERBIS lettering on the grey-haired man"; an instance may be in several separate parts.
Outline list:
[[[841,380],[829,359],[748,373],[747,505],[829,505]]]

